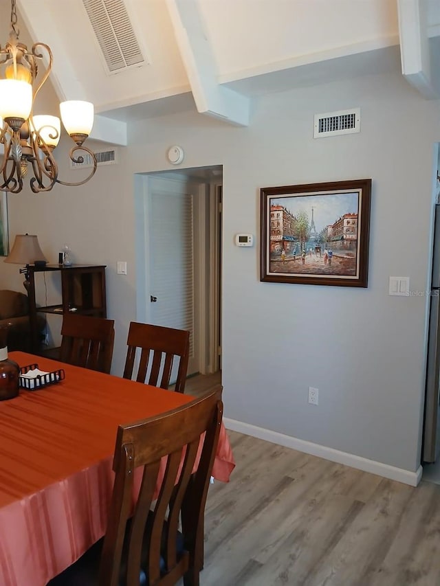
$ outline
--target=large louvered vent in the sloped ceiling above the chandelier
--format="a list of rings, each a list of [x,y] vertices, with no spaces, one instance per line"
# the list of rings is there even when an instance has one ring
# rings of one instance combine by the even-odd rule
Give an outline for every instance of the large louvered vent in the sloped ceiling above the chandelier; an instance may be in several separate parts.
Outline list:
[[[83,0],[109,74],[148,63],[124,0]]]

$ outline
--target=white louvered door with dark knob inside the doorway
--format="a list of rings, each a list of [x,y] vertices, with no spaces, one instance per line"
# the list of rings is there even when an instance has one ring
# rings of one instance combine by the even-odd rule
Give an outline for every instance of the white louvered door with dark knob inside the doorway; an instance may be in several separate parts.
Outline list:
[[[150,322],[190,331],[188,374],[200,370],[194,245],[198,189],[184,178],[150,177],[146,205]]]

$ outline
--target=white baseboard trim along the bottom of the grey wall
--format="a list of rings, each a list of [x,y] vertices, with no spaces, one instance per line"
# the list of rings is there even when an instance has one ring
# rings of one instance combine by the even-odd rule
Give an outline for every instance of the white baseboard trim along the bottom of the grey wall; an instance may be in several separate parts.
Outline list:
[[[390,480],[397,480],[397,482],[403,482],[410,486],[417,486],[421,480],[421,473],[423,471],[421,466],[419,466],[417,471],[411,472],[409,470],[404,470],[403,468],[396,468],[395,466],[389,466],[382,462],[362,458],[359,455],[328,448],[292,436],[286,436],[284,433],[278,433],[278,431],[272,431],[271,429],[265,429],[264,427],[257,427],[256,425],[250,425],[250,423],[243,423],[242,421],[237,421],[235,419],[223,418],[223,422],[227,429],[239,431],[239,433],[244,433],[246,436],[253,436],[260,440],[266,440],[267,442],[279,444],[300,452],[316,455],[318,458],[331,460],[331,462],[338,462],[338,464],[351,466],[351,468],[356,468],[364,472],[371,472],[372,474],[377,474],[384,478],[389,478]]]

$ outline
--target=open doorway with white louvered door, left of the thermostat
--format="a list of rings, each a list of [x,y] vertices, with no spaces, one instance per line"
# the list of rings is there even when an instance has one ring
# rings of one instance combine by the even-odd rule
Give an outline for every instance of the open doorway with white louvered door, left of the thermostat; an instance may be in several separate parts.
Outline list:
[[[220,370],[221,166],[135,176],[137,321],[190,330],[188,376]]]

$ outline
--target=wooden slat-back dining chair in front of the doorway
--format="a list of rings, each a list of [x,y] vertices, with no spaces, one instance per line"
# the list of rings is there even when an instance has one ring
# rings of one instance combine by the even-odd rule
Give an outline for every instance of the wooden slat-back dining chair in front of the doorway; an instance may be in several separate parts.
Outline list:
[[[184,392],[190,350],[190,333],[187,330],[131,322],[126,343],[124,379],[133,377],[136,354],[139,354],[137,348],[140,348],[135,380],[168,389],[173,363],[177,359],[179,368],[174,390]]]

